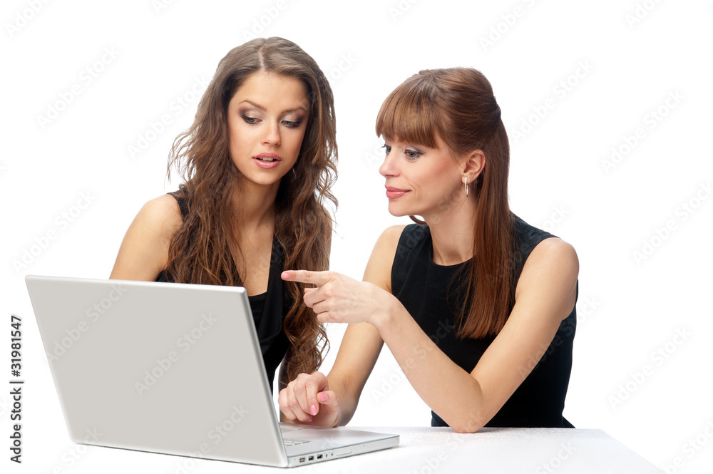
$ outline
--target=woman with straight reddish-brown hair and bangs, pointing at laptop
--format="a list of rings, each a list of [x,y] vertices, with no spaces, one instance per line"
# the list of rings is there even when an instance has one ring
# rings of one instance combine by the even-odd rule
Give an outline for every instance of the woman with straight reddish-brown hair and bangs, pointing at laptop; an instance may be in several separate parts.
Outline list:
[[[282,274],[316,285],[304,302],[319,321],[350,323],[328,376],[300,374],[279,393],[284,416],[348,423],[386,343],[433,426],[571,427],[577,254],[509,209],[508,136],[488,80],[420,71],[381,105],[376,135],[389,212],[416,224],[379,237],[364,282]]]

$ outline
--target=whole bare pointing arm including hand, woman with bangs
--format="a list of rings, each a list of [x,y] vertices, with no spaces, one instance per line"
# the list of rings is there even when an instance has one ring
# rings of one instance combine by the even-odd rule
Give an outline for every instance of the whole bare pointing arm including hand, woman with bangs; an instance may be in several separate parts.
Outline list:
[[[525,262],[508,322],[471,373],[443,354],[384,289],[334,272],[289,272],[289,279],[317,285],[304,302],[319,321],[371,324],[426,404],[454,431],[473,433],[529,375],[530,358],[550,344],[572,311],[578,271],[570,244],[540,242]]]

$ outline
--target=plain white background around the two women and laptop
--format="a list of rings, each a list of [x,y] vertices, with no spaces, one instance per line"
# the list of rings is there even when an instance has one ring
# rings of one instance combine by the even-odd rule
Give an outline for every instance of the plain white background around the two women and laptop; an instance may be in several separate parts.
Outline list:
[[[381,101],[422,68],[483,71],[511,138],[511,208],[572,243],[580,258],[565,416],[656,465],[680,458],[669,472],[709,472],[713,2],[167,3],[1,7],[0,354],[9,380],[9,319],[19,314],[26,380],[21,466],[7,460],[9,390],[0,395],[4,465],[84,472],[81,461],[66,462],[72,444],[24,275],[108,277],[141,205],[178,185],[165,182],[166,158],[193,120],[194,92],[230,48],[257,34],[295,41],[330,78],[339,143],[332,269],[357,278],[381,230],[404,222],[386,211],[378,172]],[[47,123],[40,117],[50,108],[58,113]],[[170,124],[152,133],[162,115]],[[131,156],[140,137],[150,143]],[[612,160],[612,148],[621,158]],[[79,210],[83,193],[91,204]],[[667,224],[672,230],[662,231]],[[43,239],[48,232],[53,239]],[[324,369],[343,330],[329,327],[334,349]],[[384,350],[352,424],[429,421]],[[158,468],[174,465],[166,459]]]

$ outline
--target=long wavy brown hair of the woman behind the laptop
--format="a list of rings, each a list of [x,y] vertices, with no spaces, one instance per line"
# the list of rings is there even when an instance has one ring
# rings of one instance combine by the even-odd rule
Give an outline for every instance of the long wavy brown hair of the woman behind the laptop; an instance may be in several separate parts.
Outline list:
[[[284,249],[284,268],[329,268],[332,216],[324,204],[332,202],[337,209],[330,191],[337,179],[332,88],[314,59],[292,41],[256,38],[218,63],[193,125],[178,135],[169,155],[168,179],[175,168],[184,180],[178,195],[188,202],[188,215],[168,249],[167,272],[175,282],[242,284],[231,253],[241,228],[232,196],[240,192],[242,175],[230,158],[227,105],[257,71],[299,79],[310,103],[297,163],[280,181],[275,201],[275,238]],[[285,284],[294,301],[283,323],[290,344],[287,377],[292,380],[319,368],[329,341],[324,326],[302,302],[304,285]]]

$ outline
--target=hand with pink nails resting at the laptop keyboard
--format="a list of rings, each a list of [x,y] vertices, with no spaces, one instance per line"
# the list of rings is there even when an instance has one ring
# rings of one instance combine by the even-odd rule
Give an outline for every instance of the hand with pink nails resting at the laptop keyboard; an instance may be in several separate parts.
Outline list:
[[[279,409],[292,423],[339,426],[339,398],[321,372],[300,373],[279,391]]]

